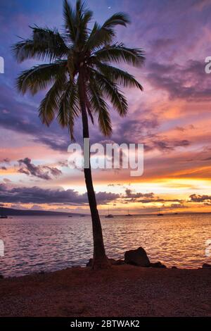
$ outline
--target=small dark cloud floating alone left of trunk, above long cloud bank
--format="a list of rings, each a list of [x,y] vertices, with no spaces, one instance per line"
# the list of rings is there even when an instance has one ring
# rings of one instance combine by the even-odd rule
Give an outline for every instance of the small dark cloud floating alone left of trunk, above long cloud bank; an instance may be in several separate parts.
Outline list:
[[[58,177],[62,174],[58,168],[49,167],[47,165],[34,165],[30,158],[23,158],[23,160],[19,160],[18,163],[21,166],[21,168],[18,169],[19,173],[32,175],[42,180],[51,180],[52,176]]]

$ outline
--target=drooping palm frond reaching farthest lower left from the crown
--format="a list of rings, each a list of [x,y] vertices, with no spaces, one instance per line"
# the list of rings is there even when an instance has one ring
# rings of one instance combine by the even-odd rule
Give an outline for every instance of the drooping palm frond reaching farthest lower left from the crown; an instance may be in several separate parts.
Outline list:
[[[16,86],[18,91],[25,94],[30,91],[36,94],[41,89],[51,85],[58,75],[65,77],[67,61],[56,61],[55,63],[36,65],[30,70],[25,70],[18,77]]]

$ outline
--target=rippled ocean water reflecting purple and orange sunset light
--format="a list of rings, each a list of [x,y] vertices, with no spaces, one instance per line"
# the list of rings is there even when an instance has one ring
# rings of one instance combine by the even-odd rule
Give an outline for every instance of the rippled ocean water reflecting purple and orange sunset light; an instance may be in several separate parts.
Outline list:
[[[211,263],[210,214],[101,216],[107,255],[124,258],[124,251],[143,246],[152,262],[198,268]],[[91,218],[73,216],[13,216],[0,220],[0,274],[5,277],[41,270],[84,266],[92,256]],[[208,253],[208,254],[207,254]]]

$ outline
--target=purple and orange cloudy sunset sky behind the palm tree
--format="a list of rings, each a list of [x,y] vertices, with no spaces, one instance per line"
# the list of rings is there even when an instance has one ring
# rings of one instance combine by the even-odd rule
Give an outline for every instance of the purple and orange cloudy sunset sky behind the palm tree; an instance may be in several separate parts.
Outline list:
[[[75,1],[70,1],[75,4]],[[113,114],[113,135],[121,144],[144,144],[144,172],[93,170],[100,213],[210,212],[211,56],[210,0],[91,0],[94,18],[103,23],[117,11],[132,24],[117,30],[117,41],[143,48],[143,68],[130,71],[144,91],[124,89],[126,118]],[[44,92],[18,94],[15,77],[37,64],[18,64],[11,44],[30,37],[29,25],[62,27],[62,0],[8,0],[0,4],[0,201],[12,208],[89,213],[84,175],[67,167],[70,138],[55,122],[41,124],[37,108]],[[82,142],[81,118],[75,127]],[[90,123],[91,142],[105,141]]]

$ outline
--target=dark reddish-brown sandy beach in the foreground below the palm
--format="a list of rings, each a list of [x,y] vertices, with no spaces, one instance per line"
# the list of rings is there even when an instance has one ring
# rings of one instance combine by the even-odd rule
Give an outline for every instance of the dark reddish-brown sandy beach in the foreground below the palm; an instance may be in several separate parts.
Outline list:
[[[211,270],[68,268],[0,280],[0,316],[211,316]]]

